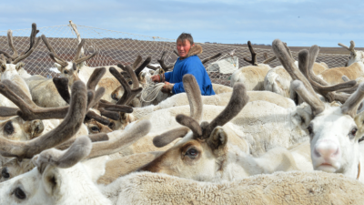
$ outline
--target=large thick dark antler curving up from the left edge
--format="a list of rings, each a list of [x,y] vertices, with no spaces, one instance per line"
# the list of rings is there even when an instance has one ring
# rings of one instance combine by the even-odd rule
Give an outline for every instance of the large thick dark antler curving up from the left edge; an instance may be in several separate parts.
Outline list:
[[[56,128],[28,141],[12,141],[0,138],[0,153],[5,157],[31,159],[42,150],[50,149],[72,138],[81,127],[87,108],[86,86],[76,81],[72,86],[72,98],[66,118]]]

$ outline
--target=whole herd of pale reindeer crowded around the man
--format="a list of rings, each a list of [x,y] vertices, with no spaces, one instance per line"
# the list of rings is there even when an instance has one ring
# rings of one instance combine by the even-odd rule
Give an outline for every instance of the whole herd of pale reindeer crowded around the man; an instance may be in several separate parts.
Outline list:
[[[82,40],[69,62],[32,25],[29,49],[0,48],[0,204],[362,204],[364,53],[345,67],[316,62],[276,39],[275,56],[201,96],[140,94],[171,70],[137,56],[131,65],[88,67]],[[43,42],[61,77],[28,74]],[[220,56],[208,57],[203,63]],[[269,67],[278,58],[281,66]],[[147,69],[148,67],[149,69]],[[362,162],[362,163],[361,163]]]

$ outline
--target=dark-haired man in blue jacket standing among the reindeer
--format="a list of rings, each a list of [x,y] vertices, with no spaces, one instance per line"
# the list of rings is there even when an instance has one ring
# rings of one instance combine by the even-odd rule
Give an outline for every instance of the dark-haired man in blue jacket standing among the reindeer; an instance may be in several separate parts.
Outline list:
[[[196,77],[201,95],[215,95],[206,69],[197,56],[197,54],[202,53],[202,47],[199,45],[195,46],[190,34],[182,33],[178,36],[177,52],[179,57],[177,58],[173,71],[167,72],[164,75],[152,76],[151,79],[154,82],[165,82],[165,86],[163,87],[164,91],[177,94],[185,92],[182,77],[186,74],[191,74]]]

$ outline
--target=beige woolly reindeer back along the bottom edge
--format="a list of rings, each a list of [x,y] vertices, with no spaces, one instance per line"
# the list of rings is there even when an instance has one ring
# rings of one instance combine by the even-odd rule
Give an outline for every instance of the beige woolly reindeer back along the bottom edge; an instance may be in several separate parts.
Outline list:
[[[209,183],[133,173],[101,188],[114,204],[362,204],[364,185],[319,171]]]

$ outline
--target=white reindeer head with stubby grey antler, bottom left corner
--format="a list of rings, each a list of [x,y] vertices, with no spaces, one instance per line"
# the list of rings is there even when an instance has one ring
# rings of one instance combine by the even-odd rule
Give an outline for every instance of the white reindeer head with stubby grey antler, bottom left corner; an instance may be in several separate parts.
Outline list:
[[[46,149],[33,159],[35,169],[0,184],[2,203],[72,204],[76,200],[80,204],[109,204],[93,182],[94,175],[99,175],[94,171],[96,166],[78,163],[91,149],[87,137],[77,138],[65,151]],[[101,167],[105,171],[105,163]],[[87,191],[80,194],[84,189]]]

